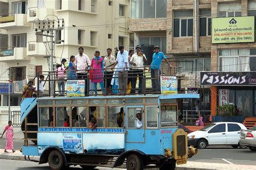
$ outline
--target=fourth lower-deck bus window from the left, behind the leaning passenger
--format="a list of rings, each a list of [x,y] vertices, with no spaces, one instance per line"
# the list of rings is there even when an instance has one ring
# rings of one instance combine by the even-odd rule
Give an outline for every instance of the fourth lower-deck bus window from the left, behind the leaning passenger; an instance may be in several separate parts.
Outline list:
[[[96,118],[97,127],[105,127],[105,106],[90,106],[89,113]]]

